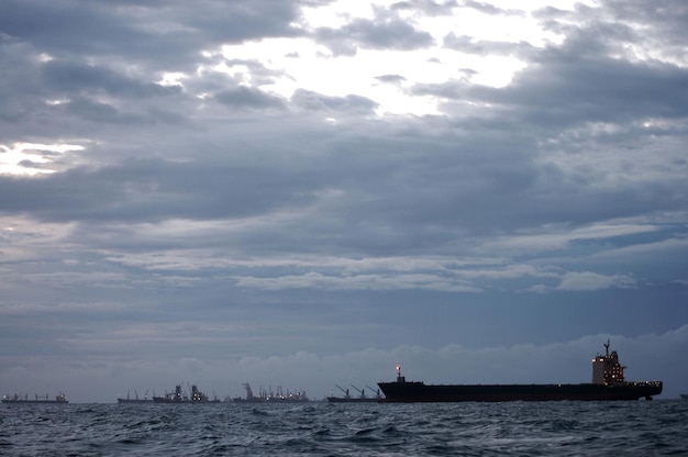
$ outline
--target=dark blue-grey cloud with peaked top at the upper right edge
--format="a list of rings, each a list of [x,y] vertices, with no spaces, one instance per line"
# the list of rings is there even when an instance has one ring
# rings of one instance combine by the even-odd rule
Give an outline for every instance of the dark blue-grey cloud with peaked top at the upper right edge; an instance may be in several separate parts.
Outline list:
[[[493,103],[518,111],[533,124],[565,127],[580,122],[623,122],[688,114],[688,70],[670,64],[628,62],[600,52],[600,43],[581,32],[562,47],[540,53],[530,68],[506,88],[458,81],[423,85],[414,93]],[[603,47],[602,47],[603,48]]]

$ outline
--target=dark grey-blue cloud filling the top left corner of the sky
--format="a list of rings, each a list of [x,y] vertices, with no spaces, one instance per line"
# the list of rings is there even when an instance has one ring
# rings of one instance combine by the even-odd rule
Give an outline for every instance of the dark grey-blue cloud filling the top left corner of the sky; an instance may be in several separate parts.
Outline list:
[[[223,43],[295,36],[295,2],[3,2],[0,31],[57,57],[126,57],[153,68],[192,69]]]

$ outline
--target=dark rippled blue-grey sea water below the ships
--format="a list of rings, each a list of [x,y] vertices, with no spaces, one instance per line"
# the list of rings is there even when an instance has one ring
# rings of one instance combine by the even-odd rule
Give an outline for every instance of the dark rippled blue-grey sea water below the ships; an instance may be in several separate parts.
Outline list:
[[[688,401],[0,405],[2,456],[688,454]]]

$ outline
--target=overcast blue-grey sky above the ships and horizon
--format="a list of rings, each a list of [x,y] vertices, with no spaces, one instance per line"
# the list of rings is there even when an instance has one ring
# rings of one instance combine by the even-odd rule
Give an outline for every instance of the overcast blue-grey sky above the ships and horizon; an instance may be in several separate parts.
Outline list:
[[[0,393],[688,391],[688,3],[3,0]]]

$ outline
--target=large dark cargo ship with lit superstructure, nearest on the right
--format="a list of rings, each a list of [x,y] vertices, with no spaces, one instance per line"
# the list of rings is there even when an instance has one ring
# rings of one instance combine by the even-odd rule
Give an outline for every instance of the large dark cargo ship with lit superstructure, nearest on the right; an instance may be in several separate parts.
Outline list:
[[[652,400],[662,393],[662,381],[625,381],[615,350],[592,359],[592,382],[580,384],[425,384],[409,381],[397,366],[397,381],[378,382],[385,393],[384,402],[462,402],[462,401],[602,401]]]

